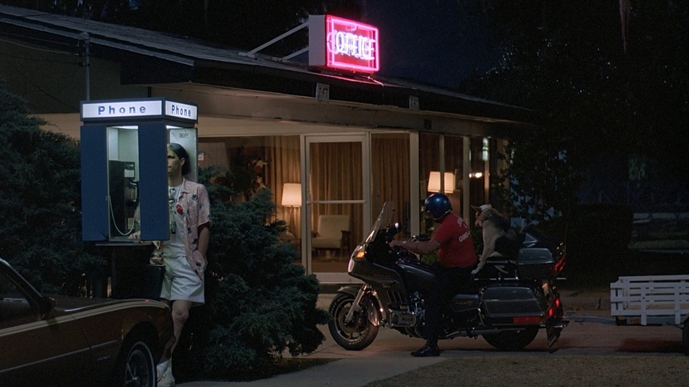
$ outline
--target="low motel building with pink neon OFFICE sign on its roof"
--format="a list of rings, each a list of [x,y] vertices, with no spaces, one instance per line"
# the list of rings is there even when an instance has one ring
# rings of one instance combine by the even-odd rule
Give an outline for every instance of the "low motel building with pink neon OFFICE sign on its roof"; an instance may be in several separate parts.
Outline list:
[[[281,237],[301,251],[297,264],[322,283],[346,283],[349,255],[385,201],[395,201],[408,235],[432,233],[420,212],[432,192],[445,192],[471,219],[470,204],[489,201],[494,155],[534,116],[377,75],[380,50],[395,37],[378,36],[375,26],[311,16],[299,28],[308,28],[309,46],[274,58],[263,47],[217,48],[0,5],[0,75],[45,129],[77,143],[83,104],[135,117],[149,100],[183,102],[195,110],[176,114],[194,115],[198,168],[249,171],[252,181],[233,200],[270,189],[276,218],[289,228]],[[298,60],[306,51],[308,63]],[[140,165],[122,164],[140,179]]]

